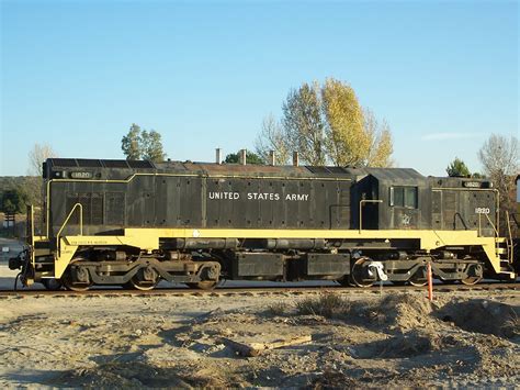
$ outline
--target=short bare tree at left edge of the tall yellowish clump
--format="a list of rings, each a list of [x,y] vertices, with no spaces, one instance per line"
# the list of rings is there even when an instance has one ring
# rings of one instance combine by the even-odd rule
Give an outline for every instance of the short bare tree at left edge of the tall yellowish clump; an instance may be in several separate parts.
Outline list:
[[[282,124],[276,121],[273,114],[263,119],[260,134],[255,141],[255,149],[264,161],[269,160],[269,154],[273,151],[276,165],[289,163],[291,157],[290,145],[286,142]]]

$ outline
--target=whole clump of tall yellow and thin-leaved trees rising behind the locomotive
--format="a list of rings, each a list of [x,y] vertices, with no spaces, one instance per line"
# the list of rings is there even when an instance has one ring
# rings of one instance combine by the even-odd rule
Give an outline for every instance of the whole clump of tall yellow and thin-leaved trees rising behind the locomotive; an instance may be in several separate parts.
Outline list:
[[[282,115],[281,129],[274,118],[264,119],[256,142],[261,156],[274,149],[286,159],[291,152],[298,152],[308,165],[392,166],[388,123],[363,110],[352,87],[343,81],[327,78],[323,85],[314,81],[292,89]]]

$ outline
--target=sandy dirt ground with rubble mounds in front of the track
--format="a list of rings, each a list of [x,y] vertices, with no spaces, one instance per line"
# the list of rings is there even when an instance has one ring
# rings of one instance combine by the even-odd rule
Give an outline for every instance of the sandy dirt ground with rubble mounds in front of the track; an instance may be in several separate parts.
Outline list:
[[[519,291],[5,298],[0,386],[513,388],[519,319]]]

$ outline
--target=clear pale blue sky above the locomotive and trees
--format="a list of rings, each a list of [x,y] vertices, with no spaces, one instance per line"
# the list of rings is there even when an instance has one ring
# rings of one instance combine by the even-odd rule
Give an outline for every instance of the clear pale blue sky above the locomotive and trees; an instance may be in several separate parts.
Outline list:
[[[34,144],[124,158],[137,123],[168,157],[252,149],[289,91],[335,77],[386,120],[394,161],[478,171],[491,133],[519,134],[516,1],[0,0],[0,176]]]

